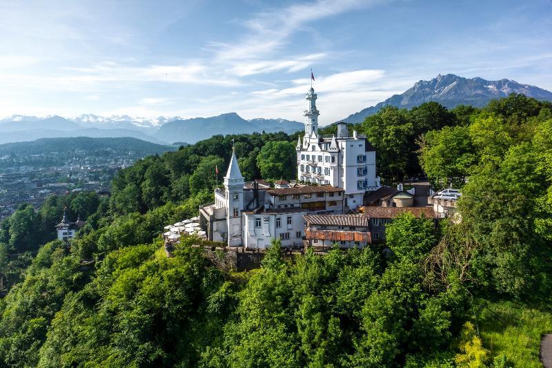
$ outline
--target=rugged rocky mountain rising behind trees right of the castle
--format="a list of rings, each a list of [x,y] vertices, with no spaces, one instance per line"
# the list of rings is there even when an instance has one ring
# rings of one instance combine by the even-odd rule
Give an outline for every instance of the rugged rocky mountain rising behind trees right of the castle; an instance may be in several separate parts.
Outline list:
[[[485,106],[491,99],[506,97],[511,93],[521,93],[534,99],[552,101],[552,92],[529,84],[520,84],[510,79],[488,81],[480,77],[467,79],[457,75],[437,75],[431,81],[418,81],[401,95],[393,95],[379,104],[364,108],[339,120],[346,123],[359,123],[364,118],[377,113],[384,106],[413,108],[424,102],[437,101],[447,108],[458,105]]]

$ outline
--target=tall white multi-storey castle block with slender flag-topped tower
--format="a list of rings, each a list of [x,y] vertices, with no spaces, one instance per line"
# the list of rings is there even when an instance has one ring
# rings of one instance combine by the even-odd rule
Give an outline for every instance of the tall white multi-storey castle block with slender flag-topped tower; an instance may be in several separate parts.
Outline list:
[[[345,123],[337,124],[337,137],[319,136],[319,111],[312,87],[306,101],[305,135],[297,140],[297,180],[343,188],[345,205],[356,209],[362,205],[366,191],[380,187],[380,178],[375,173],[375,151],[356,132],[349,137]]]

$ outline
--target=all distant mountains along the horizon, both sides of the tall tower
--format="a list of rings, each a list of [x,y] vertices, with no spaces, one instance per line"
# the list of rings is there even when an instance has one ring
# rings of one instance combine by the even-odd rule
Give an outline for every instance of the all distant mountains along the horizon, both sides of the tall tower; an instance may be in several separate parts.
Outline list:
[[[377,113],[384,106],[413,108],[424,102],[437,101],[447,108],[466,104],[476,107],[486,105],[491,99],[522,93],[528,97],[552,101],[548,90],[520,84],[510,79],[488,81],[479,77],[467,79],[457,75],[437,75],[429,81],[418,81],[401,95],[393,95],[385,101],[349,115],[340,122],[358,123]],[[128,115],[103,117],[94,114],[66,119],[57,115],[35,117],[13,115],[0,119],[0,144],[32,141],[44,137],[133,137],[155,144],[186,142],[193,144],[212,135],[284,131],[295,133],[303,124],[286,119],[243,119],[237,113],[213,117],[157,117],[144,119]]]

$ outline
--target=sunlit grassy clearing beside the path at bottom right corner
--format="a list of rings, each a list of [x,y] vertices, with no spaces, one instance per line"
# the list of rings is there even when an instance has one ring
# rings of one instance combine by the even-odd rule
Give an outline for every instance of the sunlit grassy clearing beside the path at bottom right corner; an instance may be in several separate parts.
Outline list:
[[[552,332],[552,313],[515,302],[489,302],[475,322],[491,360],[504,354],[513,367],[542,367],[540,338]]]

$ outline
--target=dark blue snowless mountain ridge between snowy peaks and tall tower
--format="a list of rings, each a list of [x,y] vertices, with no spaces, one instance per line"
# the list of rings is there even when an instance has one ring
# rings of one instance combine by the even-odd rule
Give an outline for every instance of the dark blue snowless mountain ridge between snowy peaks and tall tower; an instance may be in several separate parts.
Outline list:
[[[284,131],[295,133],[302,124],[284,119],[246,120],[237,113],[227,113],[213,117],[195,117],[193,119],[168,122],[157,130],[155,137],[164,142],[188,142],[193,144],[213,135]]]

